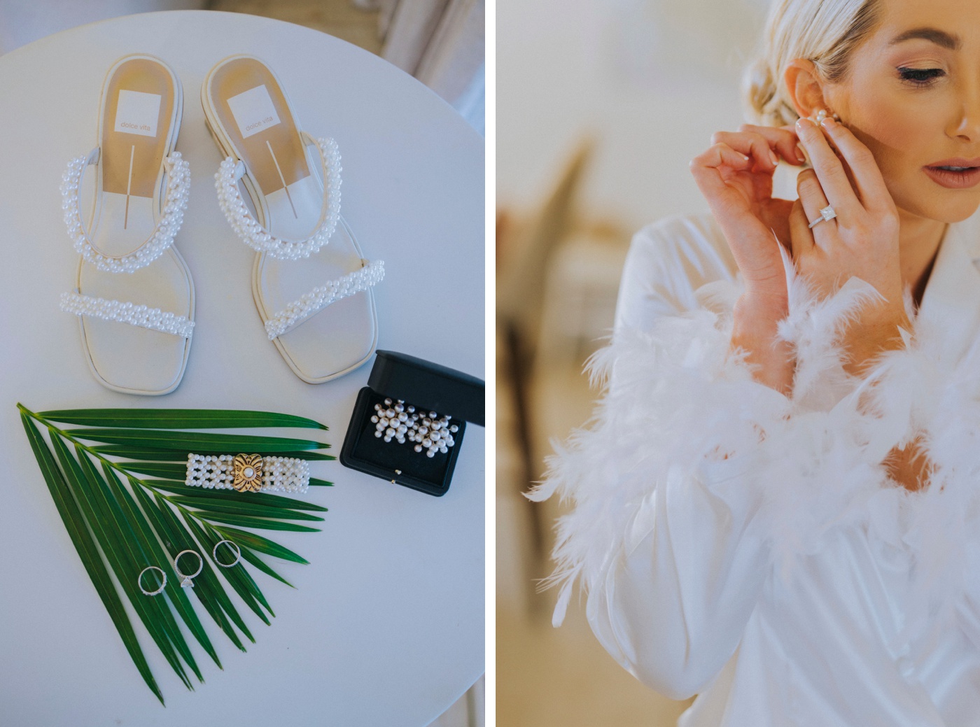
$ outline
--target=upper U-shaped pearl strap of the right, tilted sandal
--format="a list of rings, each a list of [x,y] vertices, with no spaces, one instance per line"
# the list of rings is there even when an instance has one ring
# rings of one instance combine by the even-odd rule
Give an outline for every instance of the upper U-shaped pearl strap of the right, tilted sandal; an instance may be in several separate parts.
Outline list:
[[[221,167],[215,174],[218,204],[231,228],[249,247],[280,260],[309,258],[329,241],[340,218],[341,167],[337,143],[329,138],[315,139],[306,131],[302,131],[300,136],[307,146],[317,147],[323,179],[323,205],[320,208],[317,229],[305,240],[290,242],[275,237],[252,217],[238,191],[238,180],[245,175],[243,162],[228,157],[221,162]]]

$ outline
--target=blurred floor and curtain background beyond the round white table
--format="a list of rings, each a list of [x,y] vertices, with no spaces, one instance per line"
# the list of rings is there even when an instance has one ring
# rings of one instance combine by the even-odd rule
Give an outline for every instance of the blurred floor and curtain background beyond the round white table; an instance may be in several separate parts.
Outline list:
[[[0,0],[0,54],[75,25],[165,10],[248,13],[341,38],[414,75],[484,133],[484,0]],[[485,723],[480,677],[430,727]]]

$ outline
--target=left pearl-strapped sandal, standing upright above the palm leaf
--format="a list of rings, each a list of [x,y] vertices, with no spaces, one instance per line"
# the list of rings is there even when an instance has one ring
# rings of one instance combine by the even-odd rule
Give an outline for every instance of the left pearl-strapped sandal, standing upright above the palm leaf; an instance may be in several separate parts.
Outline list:
[[[62,209],[80,259],[61,308],[78,316],[95,378],[127,394],[172,392],[190,353],[194,283],[173,247],[190,188],[188,165],[173,150],[182,113],[172,69],[153,56],[125,56],[102,87],[99,145],[62,177]],[[89,166],[96,178],[86,224]]]

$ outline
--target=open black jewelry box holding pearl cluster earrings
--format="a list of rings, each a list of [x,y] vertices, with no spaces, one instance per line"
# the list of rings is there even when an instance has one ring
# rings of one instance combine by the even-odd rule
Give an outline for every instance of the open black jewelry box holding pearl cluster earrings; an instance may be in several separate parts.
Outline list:
[[[483,426],[483,381],[462,371],[417,359],[394,351],[377,351],[377,359],[368,376],[368,385],[358,393],[351,423],[340,451],[340,462],[346,467],[367,472],[389,482],[411,487],[440,497],[449,490],[453,468],[463,447],[466,424]],[[391,405],[385,405],[390,399]],[[417,412],[436,412],[450,416],[456,425],[454,444],[445,453],[427,457],[426,450],[416,452],[415,442],[397,439],[385,442],[376,436],[375,405],[388,409],[402,401]]]

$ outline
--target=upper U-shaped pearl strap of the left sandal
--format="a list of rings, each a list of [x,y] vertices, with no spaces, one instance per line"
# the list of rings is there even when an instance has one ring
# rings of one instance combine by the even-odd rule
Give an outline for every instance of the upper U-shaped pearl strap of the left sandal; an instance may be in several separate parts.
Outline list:
[[[62,211],[65,213],[65,224],[74,241],[74,249],[86,263],[107,272],[132,272],[150,265],[173,244],[173,238],[183,223],[184,210],[187,209],[190,165],[180,158],[180,152],[173,152],[164,160],[168,179],[163,216],[153,228],[153,233],[139,248],[123,257],[112,257],[104,255],[92,245],[88,232],[81,223],[81,177],[86,167],[98,163],[100,155],[101,148],[96,147],[87,157],[73,159],[62,175]]]

